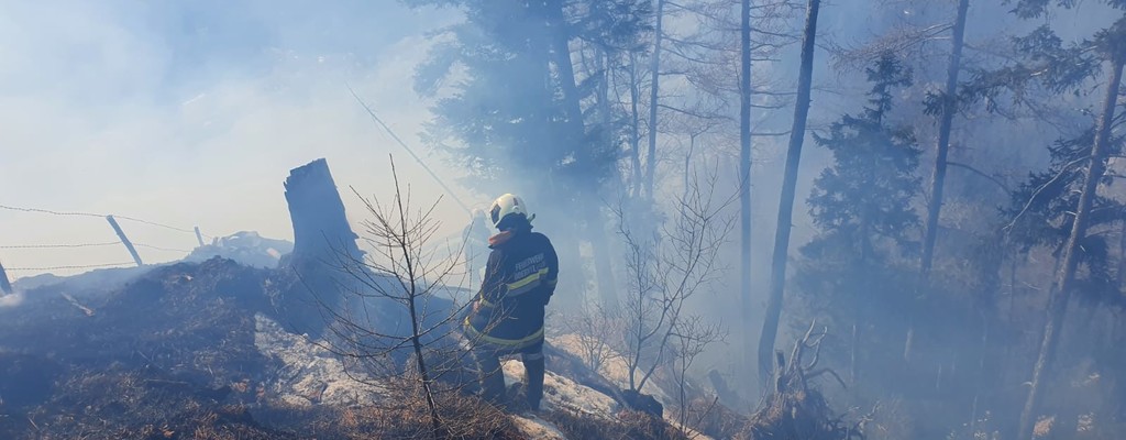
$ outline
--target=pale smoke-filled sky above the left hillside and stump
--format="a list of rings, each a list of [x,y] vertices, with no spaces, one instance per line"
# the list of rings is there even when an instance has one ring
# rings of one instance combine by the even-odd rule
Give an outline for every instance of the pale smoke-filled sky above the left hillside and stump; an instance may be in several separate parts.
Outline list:
[[[223,236],[293,239],[283,182],[327,158],[354,221],[349,187],[390,197],[388,154],[417,200],[440,188],[375,126],[350,84],[455,187],[456,170],[418,133],[428,104],[413,92],[427,32],[449,10],[397,1],[0,1],[0,205],[115,214]],[[466,215],[439,206],[446,232]],[[194,234],[122,221],[145,262],[182,258]],[[0,263],[14,279],[60,266],[131,261],[90,216],[0,209]],[[54,270],[59,275],[75,270]]]

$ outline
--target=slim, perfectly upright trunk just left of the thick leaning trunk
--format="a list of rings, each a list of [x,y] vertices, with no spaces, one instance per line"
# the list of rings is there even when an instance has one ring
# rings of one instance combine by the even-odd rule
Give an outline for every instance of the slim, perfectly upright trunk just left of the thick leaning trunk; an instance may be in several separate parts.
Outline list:
[[[751,365],[751,0],[742,0],[739,29],[739,296],[742,299],[743,365]]]

